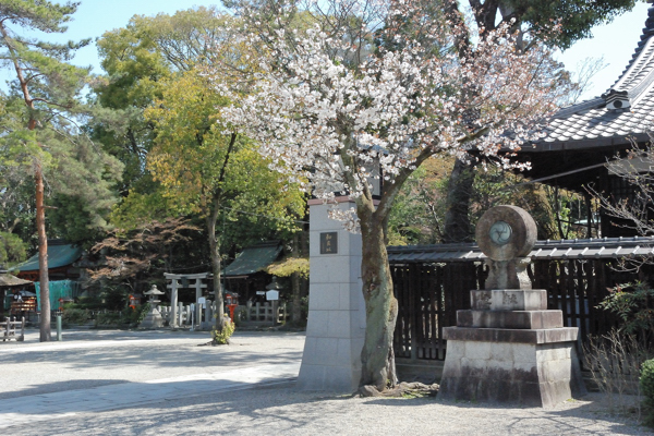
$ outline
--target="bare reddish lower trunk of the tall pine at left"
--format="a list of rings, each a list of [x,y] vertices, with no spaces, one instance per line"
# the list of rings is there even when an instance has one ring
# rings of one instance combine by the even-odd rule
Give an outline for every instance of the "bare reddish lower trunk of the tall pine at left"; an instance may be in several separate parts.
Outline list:
[[[34,171],[36,182],[36,229],[38,232],[38,277],[40,287],[40,336],[41,342],[52,339],[50,332],[50,281],[48,277],[48,238],[46,235],[46,209],[44,207],[44,174],[40,162]]]

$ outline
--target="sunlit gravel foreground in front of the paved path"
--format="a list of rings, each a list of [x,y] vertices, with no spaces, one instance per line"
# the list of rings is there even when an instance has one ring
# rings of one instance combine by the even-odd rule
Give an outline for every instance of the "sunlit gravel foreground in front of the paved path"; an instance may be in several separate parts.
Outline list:
[[[49,423],[12,435],[651,435],[606,413],[602,396],[554,410],[441,403],[437,399],[326,397],[292,385],[186,398]]]

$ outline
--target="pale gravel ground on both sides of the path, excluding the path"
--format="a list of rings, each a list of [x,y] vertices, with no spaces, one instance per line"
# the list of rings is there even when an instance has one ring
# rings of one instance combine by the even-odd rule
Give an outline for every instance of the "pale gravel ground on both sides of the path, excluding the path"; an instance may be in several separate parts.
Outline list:
[[[232,347],[196,347],[205,334],[70,332],[65,342],[4,347],[0,398],[142,382],[301,359],[302,334],[251,332]],[[633,400],[633,399],[632,399]],[[651,435],[591,393],[553,410],[304,392],[293,383],[75,413],[8,428],[12,435]]]

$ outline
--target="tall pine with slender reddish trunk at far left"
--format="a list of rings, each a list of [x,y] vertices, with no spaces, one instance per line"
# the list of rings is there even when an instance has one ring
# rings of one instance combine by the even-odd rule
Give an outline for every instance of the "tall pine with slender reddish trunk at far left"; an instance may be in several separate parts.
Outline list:
[[[15,72],[14,89],[25,101],[26,125],[22,142],[31,154],[36,184],[36,223],[40,280],[40,341],[49,341],[50,303],[48,286],[48,242],[45,226],[44,167],[49,165],[50,150],[45,143],[70,125],[61,116],[78,104],[78,93],[86,83],[88,69],[69,63],[80,43],[56,44],[25,36],[40,31],[63,33],[64,25],[80,3],[52,3],[46,0],[0,0],[0,60]]]

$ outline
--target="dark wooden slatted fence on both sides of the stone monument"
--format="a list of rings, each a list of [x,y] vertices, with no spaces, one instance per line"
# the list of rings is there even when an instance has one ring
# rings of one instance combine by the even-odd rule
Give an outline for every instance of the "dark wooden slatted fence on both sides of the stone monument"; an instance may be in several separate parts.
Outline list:
[[[548,308],[561,310],[564,325],[579,327],[580,338],[602,335],[617,318],[597,304],[607,288],[643,279],[617,271],[611,259],[536,259],[529,274],[534,289],[546,289]],[[484,289],[487,271],[480,262],[391,264],[399,314],[393,348],[397,358],[445,360],[443,328],[456,326],[457,311],[470,308],[470,290]]]

